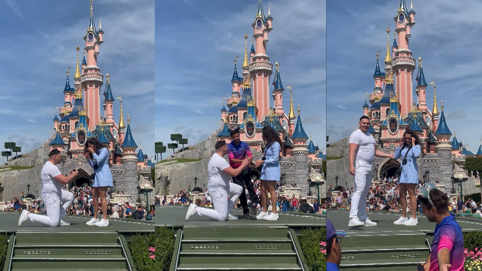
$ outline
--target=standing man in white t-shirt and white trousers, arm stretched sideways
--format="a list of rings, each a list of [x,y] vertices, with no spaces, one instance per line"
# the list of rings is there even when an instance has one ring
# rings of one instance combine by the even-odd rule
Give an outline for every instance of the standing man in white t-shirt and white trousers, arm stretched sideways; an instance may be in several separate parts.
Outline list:
[[[375,138],[367,132],[370,128],[370,119],[367,116],[362,116],[358,124],[360,129],[351,133],[348,144],[350,174],[353,175],[353,182],[355,183],[351,197],[348,227],[376,226],[376,223],[368,219],[366,214],[366,199],[373,176],[372,163],[375,160],[375,155],[393,158],[393,154],[375,148]]]

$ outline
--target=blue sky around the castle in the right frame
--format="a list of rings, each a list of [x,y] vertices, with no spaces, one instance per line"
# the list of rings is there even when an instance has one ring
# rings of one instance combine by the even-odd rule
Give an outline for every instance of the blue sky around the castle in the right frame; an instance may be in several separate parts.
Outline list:
[[[363,114],[365,92],[374,88],[376,51],[385,58],[387,25],[390,50],[399,0],[328,1],[327,3],[327,134],[330,142],[349,136]],[[410,8],[410,1],[406,0]],[[469,8],[468,8],[469,7]],[[410,37],[413,56],[423,58],[427,82],[435,79],[437,103],[444,101],[452,134],[477,152],[480,125],[482,2],[414,0],[415,26]],[[417,61],[418,63],[418,61]],[[418,68],[418,67],[417,67]],[[416,70],[415,70],[416,75]],[[414,86],[416,85],[414,76]],[[415,91],[414,100],[416,101]],[[427,87],[427,105],[433,105],[433,86]]]

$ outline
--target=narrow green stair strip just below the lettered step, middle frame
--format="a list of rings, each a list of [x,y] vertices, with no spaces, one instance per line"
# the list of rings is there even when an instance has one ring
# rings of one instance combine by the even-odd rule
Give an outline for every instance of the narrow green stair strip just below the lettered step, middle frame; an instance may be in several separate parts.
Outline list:
[[[293,250],[281,250],[281,249],[270,249],[270,250],[219,250],[219,249],[207,249],[207,250],[192,250],[192,251],[181,251],[179,253],[181,256],[192,256],[192,255],[206,255],[209,257],[215,256],[277,256],[277,255],[296,255]]]

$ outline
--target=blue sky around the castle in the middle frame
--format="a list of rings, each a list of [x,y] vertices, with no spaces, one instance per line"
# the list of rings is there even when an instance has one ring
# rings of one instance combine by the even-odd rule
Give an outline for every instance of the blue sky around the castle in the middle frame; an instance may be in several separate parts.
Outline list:
[[[234,56],[242,62],[246,31],[251,48],[257,2],[167,0],[156,5],[156,141],[167,146],[170,134],[180,133],[193,145],[218,129],[223,97],[232,90]],[[283,85],[293,84],[305,131],[321,149],[326,140],[325,1],[265,0],[265,15],[268,5],[273,30],[267,54],[270,62],[281,64]],[[288,89],[283,96],[288,112]]]

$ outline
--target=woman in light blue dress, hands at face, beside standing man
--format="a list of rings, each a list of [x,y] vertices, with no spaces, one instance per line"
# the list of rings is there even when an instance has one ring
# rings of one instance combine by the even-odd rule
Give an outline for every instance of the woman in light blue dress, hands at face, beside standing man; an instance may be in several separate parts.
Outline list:
[[[418,224],[415,188],[418,184],[417,158],[420,152],[420,139],[417,134],[412,130],[405,130],[402,139],[400,139],[400,145],[393,154],[393,158],[402,159],[402,173],[399,180],[402,217],[393,222],[393,224],[405,226],[415,226]],[[410,197],[410,206],[412,207],[412,217],[410,217],[410,219],[407,219],[407,192]]]

